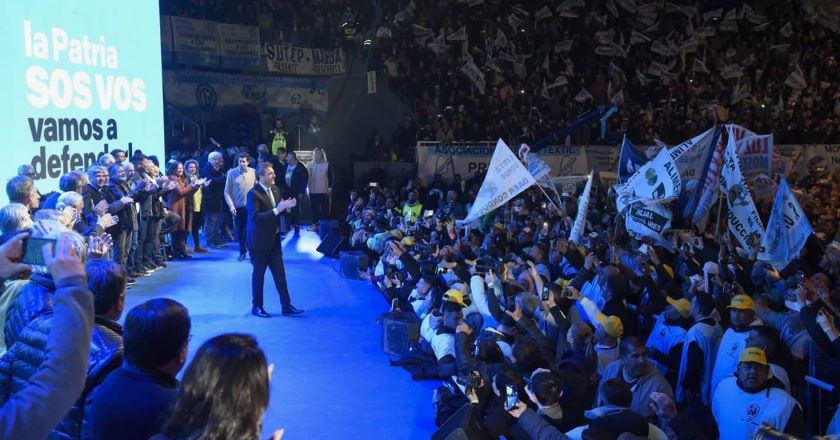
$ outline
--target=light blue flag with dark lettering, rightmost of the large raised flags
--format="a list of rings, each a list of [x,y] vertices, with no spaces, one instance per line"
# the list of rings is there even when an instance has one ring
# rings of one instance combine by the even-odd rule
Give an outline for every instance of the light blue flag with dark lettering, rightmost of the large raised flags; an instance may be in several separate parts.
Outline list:
[[[787,180],[782,179],[767,222],[767,232],[761,239],[758,260],[782,270],[799,256],[808,236],[813,233],[814,229],[790,191]]]

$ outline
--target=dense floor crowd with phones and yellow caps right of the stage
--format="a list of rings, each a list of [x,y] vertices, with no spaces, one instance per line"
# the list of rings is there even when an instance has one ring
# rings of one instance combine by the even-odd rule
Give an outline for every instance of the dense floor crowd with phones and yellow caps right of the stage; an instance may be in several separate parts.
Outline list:
[[[345,213],[370,257],[361,276],[419,325],[392,365],[444,381],[438,425],[471,405],[489,438],[838,433],[825,426],[838,396],[814,403],[804,381],[838,384],[838,173],[791,183],[816,234],[784,268],[738,247],[725,221],[674,233],[673,247],[628,233],[607,186],[592,189],[578,243],[582,188],[554,208],[532,187],[463,228],[481,182],[383,179]]]

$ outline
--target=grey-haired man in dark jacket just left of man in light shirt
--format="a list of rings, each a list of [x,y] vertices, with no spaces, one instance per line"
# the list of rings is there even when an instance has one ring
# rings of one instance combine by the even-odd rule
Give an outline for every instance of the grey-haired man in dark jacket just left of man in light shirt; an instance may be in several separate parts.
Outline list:
[[[202,179],[207,179],[201,196],[207,246],[219,248],[224,246],[219,238],[219,230],[222,227],[224,215],[228,212],[225,204],[225,180],[227,180],[227,176],[225,175],[222,153],[218,151],[210,153],[209,160],[201,168],[199,176]]]

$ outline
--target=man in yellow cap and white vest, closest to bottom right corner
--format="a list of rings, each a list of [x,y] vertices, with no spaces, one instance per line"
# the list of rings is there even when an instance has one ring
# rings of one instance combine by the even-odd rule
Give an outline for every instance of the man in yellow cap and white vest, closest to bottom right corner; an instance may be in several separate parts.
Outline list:
[[[802,408],[790,394],[770,385],[770,365],[764,350],[741,352],[735,376],[723,379],[712,398],[712,414],[722,439],[750,439],[764,424],[805,436]]]

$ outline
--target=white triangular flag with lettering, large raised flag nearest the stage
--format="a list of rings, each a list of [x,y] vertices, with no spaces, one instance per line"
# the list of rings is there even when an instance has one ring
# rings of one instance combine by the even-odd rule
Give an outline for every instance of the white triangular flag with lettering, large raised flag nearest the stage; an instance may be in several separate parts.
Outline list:
[[[525,165],[522,165],[513,151],[499,139],[475,202],[464,221],[459,223],[474,222],[482,215],[504,205],[534,183],[536,182]]]

